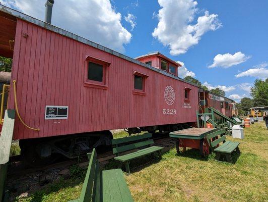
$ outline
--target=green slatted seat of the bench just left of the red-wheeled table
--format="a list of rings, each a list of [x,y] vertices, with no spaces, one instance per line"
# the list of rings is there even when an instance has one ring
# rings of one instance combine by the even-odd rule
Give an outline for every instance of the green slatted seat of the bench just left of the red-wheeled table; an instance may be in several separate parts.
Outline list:
[[[137,158],[146,156],[148,154],[155,153],[155,152],[157,152],[157,151],[159,151],[161,149],[163,149],[163,147],[161,147],[161,146],[151,146],[151,147],[148,147],[148,148],[138,150],[138,151],[136,151],[134,153],[130,153],[130,154],[126,154],[126,155],[123,155],[123,156],[115,157],[114,159],[118,160],[118,161],[121,161],[121,162],[127,162],[127,161],[130,161],[130,160],[133,160],[133,159],[137,159]]]

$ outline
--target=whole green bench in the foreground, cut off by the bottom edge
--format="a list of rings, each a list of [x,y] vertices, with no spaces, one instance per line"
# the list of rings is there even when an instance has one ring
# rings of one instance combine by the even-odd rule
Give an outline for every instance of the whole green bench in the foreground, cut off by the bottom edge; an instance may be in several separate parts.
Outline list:
[[[134,201],[121,169],[100,171],[95,148],[92,153],[88,153],[88,158],[89,166],[80,198],[72,202]]]

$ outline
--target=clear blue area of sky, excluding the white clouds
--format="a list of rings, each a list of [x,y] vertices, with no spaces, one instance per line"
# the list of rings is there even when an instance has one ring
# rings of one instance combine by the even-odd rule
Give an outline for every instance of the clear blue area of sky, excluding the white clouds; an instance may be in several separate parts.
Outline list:
[[[200,15],[203,15],[202,12],[205,10],[217,14],[222,27],[208,31],[198,44],[178,56],[170,55],[169,48],[152,36],[158,24],[157,18],[152,19],[153,13],[157,13],[160,9],[158,2],[139,1],[139,6],[136,8],[128,6],[131,2],[133,1],[113,3],[122,15],[130,12],[137,17],[137,26],[132,31],[131,42],[126,45],[128,56],[136,57],[150,51],[160,51],[175,61],[182,61],[202,83],[207,81],[212,86],[234,86],[234,90],[226,92],[227,96],[249,95],[248,91],[242,90],[241,87],[245,89],[251,86],[256,77],[236,78],[235,75],[268,62],[268,1],[197,1]],[[124,21],[122,23],[125,27],[129,26]],[[226,53],[233,55],[237,52],[242,52],[250,58],[229,68],[208,68],[216,55]],[[247,84],[239,86],[242,83]]]

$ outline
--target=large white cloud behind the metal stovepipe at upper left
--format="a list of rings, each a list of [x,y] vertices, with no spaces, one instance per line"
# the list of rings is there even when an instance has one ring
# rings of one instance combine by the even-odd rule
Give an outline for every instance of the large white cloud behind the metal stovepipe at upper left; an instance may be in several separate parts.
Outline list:
[[[2,4],[35,18],[44,19],[45,1],[4,0]],[[57,0],[53,6],[52,24],[88,38],[101,45],[124,52],[124,44],[131,40],[121,24],[121,14],[109,0]]]

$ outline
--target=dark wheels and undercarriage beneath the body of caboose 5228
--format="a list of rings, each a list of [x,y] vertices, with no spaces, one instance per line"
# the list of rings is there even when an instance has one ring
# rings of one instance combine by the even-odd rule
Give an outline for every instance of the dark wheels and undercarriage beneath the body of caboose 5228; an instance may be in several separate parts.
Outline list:
[[[153,135],[165,135],[171,131],[181,130],[194,126],[195,123],[168,124],[160,126],[146,126],[137,128],[126,128],[129,135],[147,131]],[[31,167],[40,167],[51,164],[58,159],[76,159],[93,148],[97,148],[98,153],[103,153],[111,149],[112,133],[109,130],[71,134],[64,136],[43,137],[33,139],[21,139],[22,160]]]

